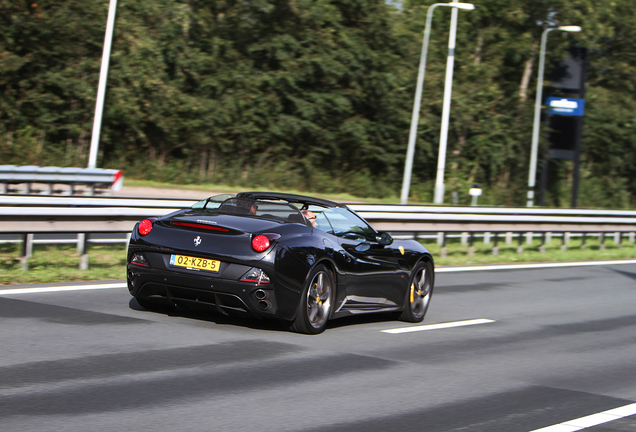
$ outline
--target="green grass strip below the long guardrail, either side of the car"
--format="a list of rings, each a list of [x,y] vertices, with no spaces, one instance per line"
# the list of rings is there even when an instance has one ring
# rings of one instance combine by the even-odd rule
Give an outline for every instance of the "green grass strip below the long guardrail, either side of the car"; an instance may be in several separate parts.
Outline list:
[[[441,247],[434,239],[422,242],[433,254],[436,266],[636,258],[636,245],[627,239],[619,246],[613,238],[606,238],[605,249],[601,250],[596,238],[589,238],[584,249],[580,247],[580,238],[573,238],[566,251],[561,250],[561,240],[555,239],[546,245],[545,253],[539,251],[539,240],[535,239],[532,245],[527,245],[525,238],[523,253],[517,253],[518,243],[516,238],[514,240],[507,245],[504,239],[500,239],[498,255],[492,255],[492,241],[490,245],[484,245],[479,240],[474,244],[474,254],[469,255],[468,247],[453,238],[447,242],[445,258],[441,257]],[[123,244],[91,245],[88,270],[79,269],[80,257],[72,244],[34,245],[28,271],[21,268],[19,251],[19,244],[0,244],[0,284],[124,279],[126,275],[126,250]]]

